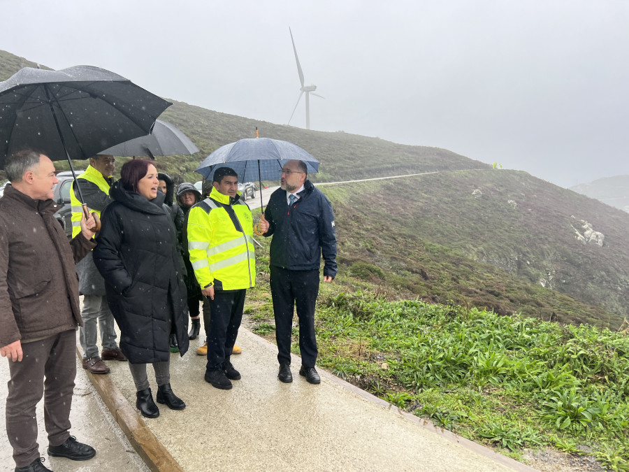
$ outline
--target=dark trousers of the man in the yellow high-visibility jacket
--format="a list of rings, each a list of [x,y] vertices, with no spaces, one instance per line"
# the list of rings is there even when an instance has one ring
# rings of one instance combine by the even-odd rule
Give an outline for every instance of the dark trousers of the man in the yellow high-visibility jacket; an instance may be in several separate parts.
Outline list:
[[[236,344],[238,328],[243,321],[246,289],[216,290],[214,300],[208,297],[210,322],[208,323],[208,364],[205,369],[221,369],[223,362],[229,361],[233,345]],[[205,313],[203,321],[205,322]]]

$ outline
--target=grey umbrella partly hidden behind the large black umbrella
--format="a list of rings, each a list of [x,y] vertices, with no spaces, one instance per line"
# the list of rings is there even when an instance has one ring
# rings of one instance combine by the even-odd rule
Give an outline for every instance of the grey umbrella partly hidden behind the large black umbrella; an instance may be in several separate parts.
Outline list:
[[[174,124],[157,120],[150,134],[99,152],[113,156],[172,156],[194,154],[198,148]]]

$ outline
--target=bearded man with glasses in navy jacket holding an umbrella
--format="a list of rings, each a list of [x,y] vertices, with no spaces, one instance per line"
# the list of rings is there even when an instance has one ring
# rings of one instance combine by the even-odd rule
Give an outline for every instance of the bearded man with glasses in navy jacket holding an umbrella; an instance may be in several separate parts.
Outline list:
[[[319,294],[319,266],[324,259],[324,282],[336,276],[336,232],[330,201],[308,180],[302,161],[288,161],[280,188],[270,196],[259,229],[273,235],[270,244],[270,289],[275,313],[277,360],[282,382],[292,382],[291,328],[294,306],[299,320],[299,374],[310,383],[321,379],[315,369],[315,302]]]

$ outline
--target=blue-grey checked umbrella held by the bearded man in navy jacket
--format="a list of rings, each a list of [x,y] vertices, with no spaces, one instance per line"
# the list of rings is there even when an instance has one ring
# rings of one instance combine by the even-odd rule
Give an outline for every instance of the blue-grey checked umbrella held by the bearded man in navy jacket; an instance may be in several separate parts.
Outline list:
[[[279,179],[284,162],[291,159],[305,162],[309,173],[319,172],[319,161],[309,152],[288,141],[270,138],[247,138],[221,146],[205,157],[195,171],[210,180],[219,167],[231,167],[238,173],[238,180],[258,180],[262,189],[262,180]]]

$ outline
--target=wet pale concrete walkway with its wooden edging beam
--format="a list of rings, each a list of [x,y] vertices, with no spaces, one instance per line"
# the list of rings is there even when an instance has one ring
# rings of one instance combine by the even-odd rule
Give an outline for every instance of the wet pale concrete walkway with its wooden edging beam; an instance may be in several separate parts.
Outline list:
[[[171,355],[171,386],[187,408],[158,405],[154,420],[137,415],[125,363],[108,362],[108,376],[89,375],[154,471],[533,471],[321,369],[321,385],[310,385],[298,376],[299,357],[294,382],[283,384],[275,345],[246,329],[237,341],[243,354],[232,357],[242,380],[215,389],[195,353],[203,339],[201,332],[184,357]],[[152,369],[149,379],[155,392]]]

